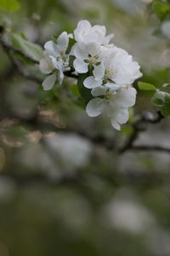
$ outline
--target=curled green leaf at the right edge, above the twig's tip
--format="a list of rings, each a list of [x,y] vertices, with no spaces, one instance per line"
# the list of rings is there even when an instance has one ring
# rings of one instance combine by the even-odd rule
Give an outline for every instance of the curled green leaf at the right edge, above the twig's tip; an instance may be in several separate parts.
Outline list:
[[[170,94],[157,90],[152,97],[152,103],[161,110],[163,116],[170,115]]]

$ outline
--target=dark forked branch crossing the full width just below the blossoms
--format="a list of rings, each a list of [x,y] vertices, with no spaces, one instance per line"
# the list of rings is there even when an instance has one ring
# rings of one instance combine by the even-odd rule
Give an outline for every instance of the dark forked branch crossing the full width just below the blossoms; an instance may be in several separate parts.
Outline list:
[[[14,113],[2,113],[2,117],[0,119],[11,118],[11,119],[18,119],[21,125],[31,125],[35,130],[39,130],[42,134],[46,133],[47,131],[50,132],[61,132],[61,133],[75,133],[81,137],[86,138],[88,141],[93,143],[94,145],[99,145],[106,150],[115,150],[119,154],[122,154],[126,151],[133,150],[133,151],[160,151],[170,153],[170,148],[163,147],[163,146],[150,146],[150,145],[134,145],[133,143],[138,139],[139,132],[145,131],[148,124],[156,124],[161,121],[163,118],[161,113],[157,113],[157,117],[155,119],[149,119],[148,117],[143,114],[140,120],[135,122],[133,125],[135,126],[135,130],[131,137],[128,138],[127,143],[121,148],[116,148],[115,138],[114,137],[105,137],[94,131],[85,131],[82,128],[78,127],[65,127],[59,128],[56,126],[53,121],[51,120],[43,120],[42,117],[36,113],[31,118],[27,118],[26,116],[16,115]],[[143,127],[138,126],[143,125]],[[145,126],[144,126],[145,125]]]

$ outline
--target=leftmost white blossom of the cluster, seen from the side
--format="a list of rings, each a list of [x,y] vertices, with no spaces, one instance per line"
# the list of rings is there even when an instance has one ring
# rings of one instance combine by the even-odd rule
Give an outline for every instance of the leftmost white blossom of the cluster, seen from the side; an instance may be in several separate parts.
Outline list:
[[[48,41],[44,45],[44,58],[40,61],[40,70],[42,73],[53,73],[55,69],[59,71],[59,84],[62,84],[64,79],[64,71],[69,67],[69,55],[65,52],[68,48],[69,38],[67,32],[62,32],[57,39],[57,44],[53,41]],[[44,90],[50,90],[56,81],[56,74],[49,75],[42,83]]]

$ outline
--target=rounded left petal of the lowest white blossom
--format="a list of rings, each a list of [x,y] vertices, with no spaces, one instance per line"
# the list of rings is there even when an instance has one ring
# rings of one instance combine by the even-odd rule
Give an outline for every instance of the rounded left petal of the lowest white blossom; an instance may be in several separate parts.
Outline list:
[[[105,108],[104,100],[101,98],[94,98],[90,102],[88,102],[88,105],[86,107],[86,112],[88,113],[88,116],[95,117],[95,116],[98,116],[100,113],[102,113],[104,108]]]

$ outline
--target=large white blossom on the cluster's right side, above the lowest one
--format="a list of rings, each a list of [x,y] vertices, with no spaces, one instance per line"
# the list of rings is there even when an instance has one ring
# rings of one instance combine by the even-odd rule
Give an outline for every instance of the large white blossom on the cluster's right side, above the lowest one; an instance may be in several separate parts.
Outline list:
[[[124,49],[101,47],[100,59],[103,69],[96,68],[94,76],[84,80],[84,86],[89,89],[102,84],[118,89],[133,84],[135,79],[142,76],[139,72],[139,64],[133,61],[132,55],[128,55]],[[101,78],[102,74],[104,74],[103,78]]]

